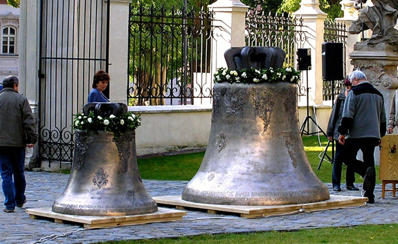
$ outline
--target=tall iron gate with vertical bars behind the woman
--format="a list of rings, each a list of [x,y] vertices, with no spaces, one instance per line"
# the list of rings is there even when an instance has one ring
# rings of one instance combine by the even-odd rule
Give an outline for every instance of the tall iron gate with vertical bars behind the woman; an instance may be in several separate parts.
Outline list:
[[[73,114],[86,103],[93,74],[108,69],[109,3],[41,1],[39,159],[48,164],[72,162]]]

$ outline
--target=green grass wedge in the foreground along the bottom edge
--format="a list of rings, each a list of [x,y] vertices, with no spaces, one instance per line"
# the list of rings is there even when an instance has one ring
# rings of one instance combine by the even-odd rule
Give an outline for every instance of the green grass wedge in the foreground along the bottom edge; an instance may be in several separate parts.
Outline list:
[[[356,227],[327,227],[300,229],[291,232],[260,232],[248,234],[219,234],[183,236],[180,238],[139,241],[109,241],[104,244],[382,244],[398,243],[398,225],[361,225]]]

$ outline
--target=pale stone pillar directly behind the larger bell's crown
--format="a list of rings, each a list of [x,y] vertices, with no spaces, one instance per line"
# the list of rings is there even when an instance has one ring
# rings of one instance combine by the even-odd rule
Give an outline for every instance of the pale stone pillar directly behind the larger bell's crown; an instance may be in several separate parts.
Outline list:
[[[225,51],[233,46],[246,46],[244,26],[248,6],[239,0],[218,0],[208,8],[215,12],[213,25],[219,26],[212,41],[212,73],[215,73],[218,68],[226,67]]]

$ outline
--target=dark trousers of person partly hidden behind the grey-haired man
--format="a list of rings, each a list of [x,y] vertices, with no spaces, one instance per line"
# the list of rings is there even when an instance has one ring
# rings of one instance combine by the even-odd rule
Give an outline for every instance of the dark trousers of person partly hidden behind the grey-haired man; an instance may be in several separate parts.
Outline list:
[[[345,161],[344,161],[345,146],[338,143],[338,141],[334,141],[334,144],[336,145],[336,148],[334,151],[334,159],[333,159],[332,184],[333,184],[333,187],[335,187],[335,186],[340,187],[341,169],[343,167],[343,162],[345,163]],[[355,160],[356,160],[356,158],[355,158]],[[345,185],[346,186],[354,186],[355,171],[352,168],[352,166],[349,166],[350,164],[345,163],[345,165],[347,166],[347,171],[345,173]]]

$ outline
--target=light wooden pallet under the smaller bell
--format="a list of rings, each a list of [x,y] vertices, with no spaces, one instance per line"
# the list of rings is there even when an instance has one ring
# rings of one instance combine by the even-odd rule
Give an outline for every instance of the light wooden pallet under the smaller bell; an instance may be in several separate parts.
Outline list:
[[[53,220],[55,223],[82,225],[85,228],[168,222],[172,220],[181,220],[183,216],[186,215],[185,211],[165,209],[162,207],[159,207],[159,211],[151,214],[137,214],[130,216],[77,216],[58,214],[51,211],[51,207],[26,209],[26,213],[28,213],[29,217],[32,219],[48,219]]]

